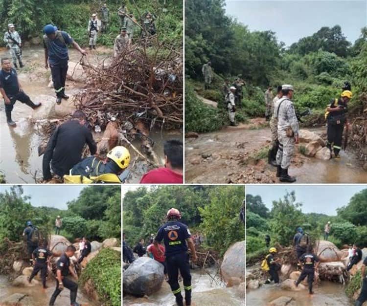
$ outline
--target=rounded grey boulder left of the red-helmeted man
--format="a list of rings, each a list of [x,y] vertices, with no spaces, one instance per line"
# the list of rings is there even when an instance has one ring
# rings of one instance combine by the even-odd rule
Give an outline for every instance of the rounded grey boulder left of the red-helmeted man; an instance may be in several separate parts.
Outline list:
[[[139,297],[157,292],[164,281],[163,266],[149,257],[139,257],[123,274],[123,291]]]

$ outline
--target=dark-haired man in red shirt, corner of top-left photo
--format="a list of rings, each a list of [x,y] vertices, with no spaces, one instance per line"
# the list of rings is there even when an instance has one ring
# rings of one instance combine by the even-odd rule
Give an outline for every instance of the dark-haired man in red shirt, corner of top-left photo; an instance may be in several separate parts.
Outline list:
[[[180,140],[167,140],[163,146],[164,167],[143,175],[140,184],[182,184],[184,182],[184,147]]]

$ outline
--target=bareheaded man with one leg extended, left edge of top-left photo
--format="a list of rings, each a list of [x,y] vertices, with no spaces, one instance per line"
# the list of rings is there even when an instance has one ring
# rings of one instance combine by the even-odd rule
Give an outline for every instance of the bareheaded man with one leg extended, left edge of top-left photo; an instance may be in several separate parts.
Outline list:
[[[17,126],[11,117],[15,102],[20,101],[32,109],[37,109],[41,106],[41,103],[33,103],[29,96],[25,94],[19,82],[17,71],[11,67],[11,62],[8,58],[1,59],[0,93],[4,98],[6,123],[13,128]]]

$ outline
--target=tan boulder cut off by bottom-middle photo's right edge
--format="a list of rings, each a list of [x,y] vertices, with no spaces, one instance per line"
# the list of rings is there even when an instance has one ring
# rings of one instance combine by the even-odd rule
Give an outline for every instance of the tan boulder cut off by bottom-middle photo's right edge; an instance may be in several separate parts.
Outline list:
[[[234,243],[226,251],[221,272],[225,281],[228,281],[230,277],[239,277],[241,280],[245,280],[245,241]]]

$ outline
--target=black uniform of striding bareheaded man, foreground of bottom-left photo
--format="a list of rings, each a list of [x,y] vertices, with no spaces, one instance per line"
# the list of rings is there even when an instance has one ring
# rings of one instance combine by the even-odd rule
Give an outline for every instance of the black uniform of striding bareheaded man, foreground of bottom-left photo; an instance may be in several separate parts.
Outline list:
[[[76,294],[78,292],[78,284],[74,283],[70,279],[69,276],[69,266],[70,260],[69,257],[64,253],[61,255],[60,259],[57,261],[57,270],[61,271],[62,282],[66,288],[70,290],[70,304],[74,305],[76,303]],[[61,290],[59,289],[59,281],[56,279],[56,289],[51,296],[51,300],[49,306],[53,306],[57,296],[60,294]]]

